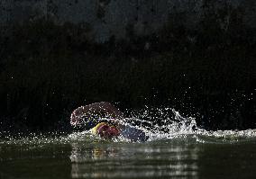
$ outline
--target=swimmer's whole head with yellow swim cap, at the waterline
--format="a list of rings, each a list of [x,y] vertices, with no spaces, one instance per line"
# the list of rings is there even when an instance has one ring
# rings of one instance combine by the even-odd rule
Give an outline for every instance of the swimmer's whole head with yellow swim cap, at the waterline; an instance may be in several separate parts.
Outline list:
[[[99,135],[104,139],[113,139],[120,135],[120,131],[115,127],[106,122],[101,122],[93,128],[93,133]]]

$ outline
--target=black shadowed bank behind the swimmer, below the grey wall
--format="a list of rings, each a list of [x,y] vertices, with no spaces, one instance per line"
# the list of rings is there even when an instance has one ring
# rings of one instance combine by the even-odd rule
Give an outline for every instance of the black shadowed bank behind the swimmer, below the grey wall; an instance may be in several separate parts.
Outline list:
[[[174,107],[207,130],[255,128],[256,31],[215,19],[143,37],[130,25],[102,44],[89,24],[15,24],[0,37],[0,129],[69,130],[72,110],[99,101]]]

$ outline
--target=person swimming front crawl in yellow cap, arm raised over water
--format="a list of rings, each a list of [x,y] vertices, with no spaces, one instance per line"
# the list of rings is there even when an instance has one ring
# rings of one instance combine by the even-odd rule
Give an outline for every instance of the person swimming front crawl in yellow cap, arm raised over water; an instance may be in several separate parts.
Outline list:
[[[98,121],[95,118],[101,116],[113,120],[97,123]],[[114,139],[118,136],[132,141],[145,141],[148,139],[142,130],[138,130],[127,124],[121,124],[119,121],[124,118],[123,112],[111,103],[92,103],[78,107],[78,109],[72,112],[70,123],[72,126],[78,126],[83,123],[85,118],[87,119],[87,127],[91,128],[94,134],[103,139]]]

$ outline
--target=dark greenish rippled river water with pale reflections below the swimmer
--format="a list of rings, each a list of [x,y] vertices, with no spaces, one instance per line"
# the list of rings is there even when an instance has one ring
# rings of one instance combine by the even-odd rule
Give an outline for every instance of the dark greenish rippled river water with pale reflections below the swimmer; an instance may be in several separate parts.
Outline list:
[[[2,135],[0,178],[256,178],[256,130],[195,125],[179,117],[144,128],[146,142],[99,139],[89,130]]]

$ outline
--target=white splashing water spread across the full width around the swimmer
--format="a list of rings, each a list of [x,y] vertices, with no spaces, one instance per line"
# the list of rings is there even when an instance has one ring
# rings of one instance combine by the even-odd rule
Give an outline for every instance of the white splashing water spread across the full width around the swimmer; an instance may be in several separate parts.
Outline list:
[[[116,120],[111,118],[95,119],[96,121],[118,121],[124,126],[129,126],[136,130],[142,130],[148,137],[147,142],[184,139],[192,137],[196,142],[200,143],[224,143],[224,142],[241,142],[247,140],[256,140],[256,130],[217,130],[207,131],[197,127],[195,118],[182,117],[179,112],[172,108],[149,108],[139,111],[130,112],[128,118]],[[87,120],[82,124],[86,125]],[[1,133],[0,133],[1,134]],[[73,132],[69,135],[50,133],[50,134],[34,134],[23,137],[23,134],[14,136],[4,135],[0,139],[0,144],[50,144],[50,143],[69,143],[72,141],[102,142],[105,139],[94,135],[90,129]],[[106,141],[105,141],[106,142]],[[109,142],[109,141],[107,141]],[[112,142],[131,142],[122,136],[113,139]]]

